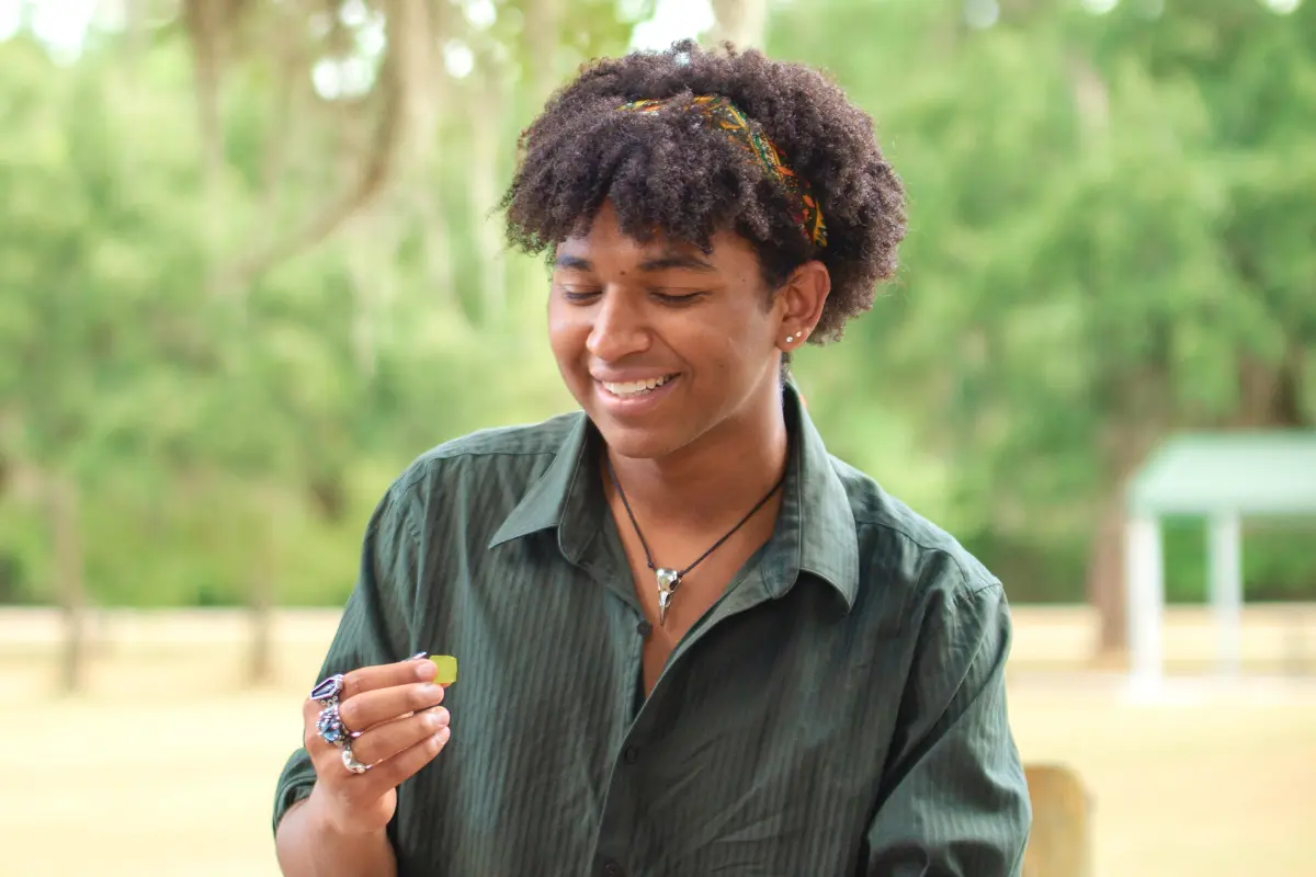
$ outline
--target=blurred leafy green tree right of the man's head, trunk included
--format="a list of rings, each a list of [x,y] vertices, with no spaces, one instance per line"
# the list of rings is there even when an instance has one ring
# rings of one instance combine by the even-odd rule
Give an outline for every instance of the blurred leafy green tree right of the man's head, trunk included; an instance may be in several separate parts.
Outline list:
[[[1149,448],[1316,410],[1300,375],[1316,266],[1298,243],[1316,235],[1292,195],[1316,183],[1300,121],[1316,11],[894,3],[880,30],[869,14],[821,4],[779,30],[874,110],[911,192],[896,295],[848,346],[883,380],[846,404],[921,423],[967,533],[1086,527],[1100,647],[1119,653],[1123,489]],[[850,36],[887,30],[880,50]]]

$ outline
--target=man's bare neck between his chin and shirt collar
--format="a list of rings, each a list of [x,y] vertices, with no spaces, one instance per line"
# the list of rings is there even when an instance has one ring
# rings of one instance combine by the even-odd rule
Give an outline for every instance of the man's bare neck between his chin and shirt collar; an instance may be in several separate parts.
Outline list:
[[[665,458],[607,451],[636,514],[707,526],[738,518],[762,500],[786,471],[788,444],[780,392],[766,396]]]

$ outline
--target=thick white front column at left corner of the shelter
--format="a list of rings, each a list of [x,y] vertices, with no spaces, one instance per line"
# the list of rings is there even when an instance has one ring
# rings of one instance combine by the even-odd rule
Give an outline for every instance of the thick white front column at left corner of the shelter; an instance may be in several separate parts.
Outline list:
[[[1125,531],[1125,582],[1129,613],[1129,684],[1137,693],[1161,688],[1161,625],[1165,614],[1165,564],[1161,526],[1137,513]]]

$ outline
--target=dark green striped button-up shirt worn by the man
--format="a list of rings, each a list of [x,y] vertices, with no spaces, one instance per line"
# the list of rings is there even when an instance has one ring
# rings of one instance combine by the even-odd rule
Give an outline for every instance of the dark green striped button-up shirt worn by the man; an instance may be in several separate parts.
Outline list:
[[[775,533],[647,698],[583,414],[457,439],[392,485],[322,675],[458,657],[453,739],[399,788],[400,874],[1020,873],[1000,582],[784,404]],[[275,826],[313,781],[296,751]]]

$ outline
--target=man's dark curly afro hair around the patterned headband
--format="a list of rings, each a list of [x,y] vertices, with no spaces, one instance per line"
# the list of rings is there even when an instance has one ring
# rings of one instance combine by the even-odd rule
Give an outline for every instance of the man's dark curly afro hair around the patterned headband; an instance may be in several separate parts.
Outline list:
[[[817,249],[791,220],[786,195],[744,149],[676,107],[616,112],[641,99],[717,95],[738,105],[807,180],[828,242]],[[750,241],[769,289],[800,264],[821,260],[832,292],[809,341],[838,339],[892,276],[904,238],[904,192],[874,138],[873,120],[820,72],[694,41],[661,53],[594,62],[555,92],[521,134],[520,166],[503,197],[509,242],[553,256],[588,230],[611,200],[621,230],[655,233],[704,249],[720,230]]]

